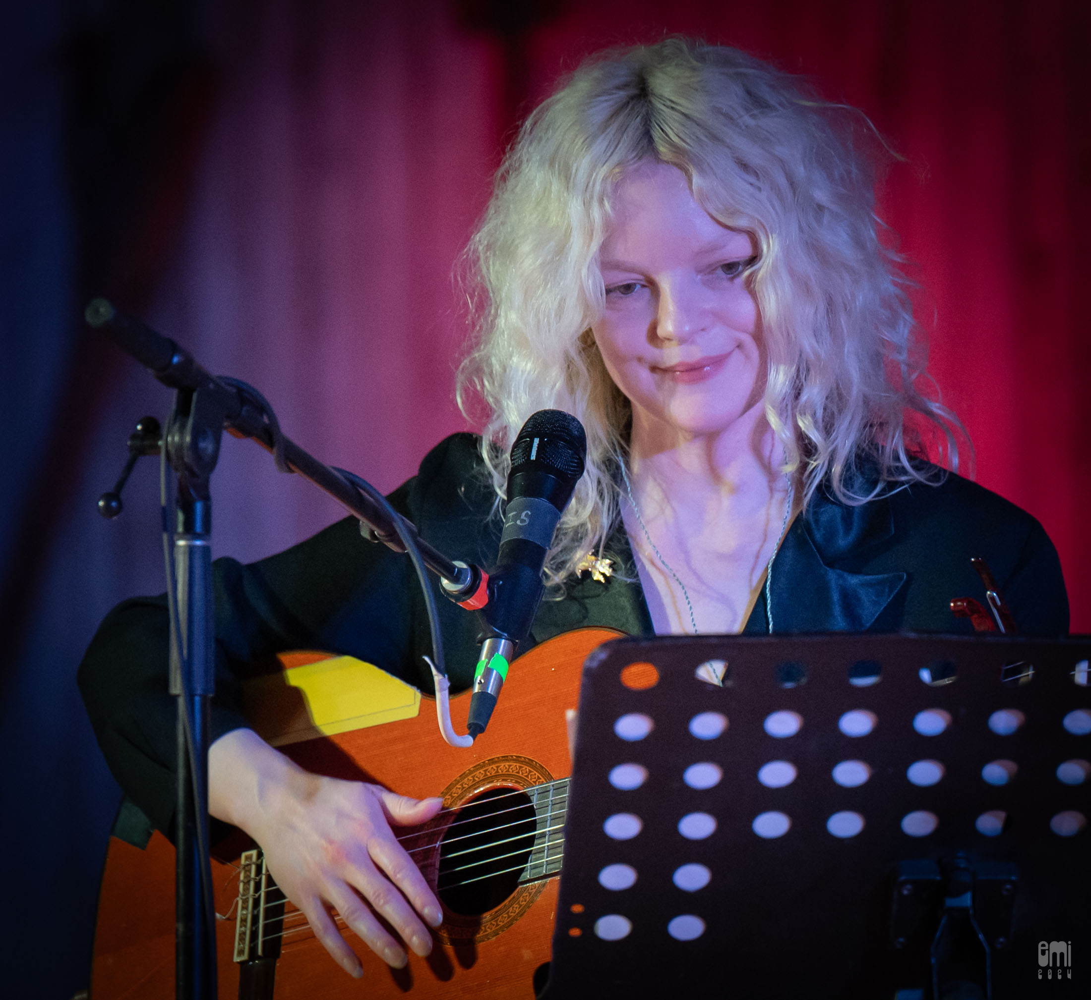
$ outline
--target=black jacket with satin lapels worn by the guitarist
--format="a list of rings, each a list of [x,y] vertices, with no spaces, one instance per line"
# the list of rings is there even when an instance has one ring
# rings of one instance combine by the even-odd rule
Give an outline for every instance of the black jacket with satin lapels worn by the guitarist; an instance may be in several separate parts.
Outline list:
[[[489,518],[491,487],[478,438],[455,434],[424,458],[391,497],[421,535],[453,558],[489,566],[500,526]],[[215,563],[217,692],[212,738],[245,725],[239,677],[247,663],[289,649],[347,653],[431,690],[421,656],[430,650],[424,604],[409,561],[361,538],[353,518],[250,566]],[[535,642],[582,626],[650,634],[623,529],[607,546],[620,567],[606,583],[585,577],[560,601],[542,603]],[[983,557],[1019,630],[1068,631],[1068,600],[1056,551],[1041,525],[987,490],[948,475],[860,507],[817,495],[789,529],[772,564],[777,632],[915,631],[966,634],[952,598],[984,599],[970,565]],[[628,577],[630,579],[623,579]],[[447,672],[468,687],[477,659],[475,615],[439,597]],[[768,627],[764,594],[745,632]],[[160,830],[175,804],[175,708],[167,694],[164,598],[118,605],[80,666],[99,746],[118,782]]]

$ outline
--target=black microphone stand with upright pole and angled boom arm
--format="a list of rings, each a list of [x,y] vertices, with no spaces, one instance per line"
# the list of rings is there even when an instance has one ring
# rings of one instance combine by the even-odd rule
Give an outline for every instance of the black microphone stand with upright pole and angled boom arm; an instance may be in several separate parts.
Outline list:
[[[405,518],[395,526],[387,515],[389,508],[384,510],[382,506],[382,497],[369,495],[369,491],[374,494],[371,486],[359,481],[350,483],[281,434],[267,405],[249,386],[214,377],[173,340],[118,312],[105,299],[93,300],[84,316],[92,328],[175,389],[175,405],[161,443],[155,441],[154,419],[145,418],[137,424],[129,443],[130,460],[115,490],[99,499],[98,508],[104,517],[120,514],[120,491],[136,458],[161,448],[170,694],[178,704],[176,997],[216,1000],[216,921],[208,866],[208,699],[215,690],[209,480],[224,430],[253,438],[274,454],[283,471],[296,472],[332,495],[369,526],[373,541],[382,541],[397,552],[407,551],[403,539],[415,544],[423,564],[441,577],[446,595],[464,607],[483,606],[488,577],[477,566],[447,558],[420,539],[416,527]],[[176,478],[173,497],[167,489],[168,466]],[[397,517],[395,511],[391,514]]]

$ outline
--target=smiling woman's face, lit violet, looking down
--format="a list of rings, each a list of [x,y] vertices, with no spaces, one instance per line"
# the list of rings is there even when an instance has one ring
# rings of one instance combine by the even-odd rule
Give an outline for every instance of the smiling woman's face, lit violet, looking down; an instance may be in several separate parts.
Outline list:
[[[742,276],[750,236],[717,222],[666,164],[626,173],[613,208],[599,256],[606,311],[592,333],[633,403],[634,432],[729,429],[765,389],[760,317]]]

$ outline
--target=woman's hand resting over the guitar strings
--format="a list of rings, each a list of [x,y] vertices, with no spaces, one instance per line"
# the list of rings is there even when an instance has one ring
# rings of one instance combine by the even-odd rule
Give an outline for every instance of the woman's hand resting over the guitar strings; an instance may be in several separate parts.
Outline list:
[[[406,964],[405,951],[376,913],[417,954],[432,950],[418,914],[439,927],[440,903],[391,826],[422,823],[441,805],[439,798],[418,800],[379,785],[311,774],[251,730],[227,733],[208,749],[208,811],[257,841],[277,884],[353,976],[362,975],[360,962],[327,905],[396,968]]]

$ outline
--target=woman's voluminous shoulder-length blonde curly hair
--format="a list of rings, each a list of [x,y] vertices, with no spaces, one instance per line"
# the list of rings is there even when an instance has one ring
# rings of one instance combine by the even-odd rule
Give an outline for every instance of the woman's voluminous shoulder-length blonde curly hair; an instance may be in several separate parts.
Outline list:
[[[554,590],[620,515],[632,411],[590,330],[611,192],[643,161],[679,167],[705,210],[758,246],[747,280],[768,350],[765,412],[804,503],[824,484],[860,504],[935,481],[942,470],[920,461],[930,444],[957,468],[963,432],[927,381],[911,285],[874,214],[884,148],[862,112],[736,49],[680,38],[588,59],[527,119],[467,249],[476,330],[458,400],[466,412],[476,391],[488,408],[497,509],[526,419],[555,408],[583,422],[587,471],[546,565]],[[865,457],[879,482],[862,491]]]

